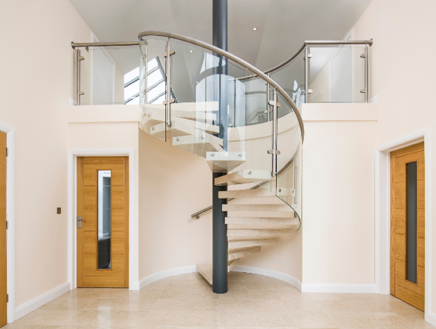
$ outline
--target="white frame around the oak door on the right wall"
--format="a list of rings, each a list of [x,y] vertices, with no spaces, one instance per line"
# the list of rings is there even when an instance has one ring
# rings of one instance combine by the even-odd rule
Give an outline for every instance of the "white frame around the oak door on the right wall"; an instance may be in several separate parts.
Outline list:
[[[426,285],[424,319],[430,321],[431,297],[431,141],[430,127],[394,139],[375,149],[375,284],[377,294],[390,294],[390,152],[424,141],[426,163]]]

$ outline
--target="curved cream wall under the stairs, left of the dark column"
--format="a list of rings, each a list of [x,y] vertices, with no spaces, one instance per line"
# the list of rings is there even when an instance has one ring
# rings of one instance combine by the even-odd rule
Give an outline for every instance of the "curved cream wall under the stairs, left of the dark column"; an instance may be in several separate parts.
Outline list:
[[[139,277],[212,261],[212,172],[206,160],[139,132]]]

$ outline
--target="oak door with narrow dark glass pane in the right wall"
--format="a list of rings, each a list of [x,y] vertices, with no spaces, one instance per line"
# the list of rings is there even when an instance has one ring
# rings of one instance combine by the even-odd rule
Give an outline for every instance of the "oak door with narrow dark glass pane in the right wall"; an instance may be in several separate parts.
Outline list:
[[[424,311],[424,142],[391,153],[390,293]]]

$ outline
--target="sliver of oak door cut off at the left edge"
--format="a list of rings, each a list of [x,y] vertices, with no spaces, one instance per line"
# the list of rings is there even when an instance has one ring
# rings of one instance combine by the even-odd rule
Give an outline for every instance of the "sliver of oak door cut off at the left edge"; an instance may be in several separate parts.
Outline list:
[[[6,133],[0,132],[0,327],[8,322],[6,262]]]

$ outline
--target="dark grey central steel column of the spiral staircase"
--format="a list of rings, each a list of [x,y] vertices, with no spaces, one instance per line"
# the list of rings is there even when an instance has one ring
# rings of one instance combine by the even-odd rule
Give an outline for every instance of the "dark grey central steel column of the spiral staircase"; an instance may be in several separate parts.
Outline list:
[[[212,1],[212,44],[227,51],[227,0]],[[228,145],[228,113],[227,113],[227,64],[226,58],[219,57],[219,66],[214,68],[215,88],[219,88],[219,138],[223,139],[224,151]],[[227,186],[215,186],[215,178],[226,175],[223,172],[212,173],[212,291],[215,294],[227,292],[227,225],[225,224],[226,212],[222,205],[227,204],[227,199],[219,199],[218,192],[227,190]]]

